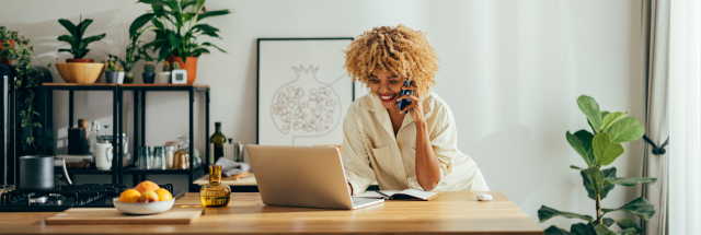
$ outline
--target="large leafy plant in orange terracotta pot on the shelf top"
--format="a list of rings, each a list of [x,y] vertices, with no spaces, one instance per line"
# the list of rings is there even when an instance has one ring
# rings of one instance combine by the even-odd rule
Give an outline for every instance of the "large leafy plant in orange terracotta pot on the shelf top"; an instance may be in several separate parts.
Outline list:
[[[209,54],[207,47],[214,47],[221,52],[227,52],[211,43],[198,43],[200,36],[209,36],[221,39],[217,34],[218,28],[209,24],[200,24],[199,21],[218,15],[231,13],[228,9],[207,11],[205,0],[199,1],[164,1],[139,0],[138,2],[151,5],[152,12],[142,14],[134,20],[129,26],[129,35],[136,35],[147,23],[153,28],[156,38],[148,43],[147,47],[158,50],[159,60],[165,59],[169,63],[180,63],[187,70],[187,83],[195,82],[197,75],[197,57]]]

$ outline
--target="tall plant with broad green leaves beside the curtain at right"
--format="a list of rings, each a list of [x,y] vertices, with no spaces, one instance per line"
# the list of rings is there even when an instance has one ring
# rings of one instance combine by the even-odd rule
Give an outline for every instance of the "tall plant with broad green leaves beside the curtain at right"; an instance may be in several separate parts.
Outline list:
[[[601,200],[606,198],[609,191],[613,190],[616,185],[628,187],[636,184],[652,185],[657,181],[657,179],[617,177],[616,167],[604,169],[601,167],[610,165],[617,157],[623,154],[622,142],[634,141],[643,137],[645,128],[634,117],[625,117],[628,111],[600,111],[599,104],[596,103],[593,97],[582,95],[577,98],[577,105],[587,117],[593,132],[587,130],[578,130],[574,132],[574,134],[570,133],[570,131],[566,132],[565,138],[567,142],[570,142],[570,145],[572,145],[587,164],[587,167],[574,165],[570,167],[579,171],[588,197],[596,200],[596,220],[590,215],[559,211],[542,205],[538,210],[540,223],[554,216],[578,219],[588,222],[573,224],[570,227],[570,232],[552,225],[545,230],[545,234],[616,235],[642,233],[643,230],[628,218],[614,221],[613,219],[605,218],[605,215],[614,211],[623,211],[633,213],[643,220],[650,220],[650,218],[655,215],[655,207],[647,202],[645,198],[636,198],[617,209],[601,208]],[[610,227],[613,224],[618,224],[622,231],[618,233],[612,232]]]

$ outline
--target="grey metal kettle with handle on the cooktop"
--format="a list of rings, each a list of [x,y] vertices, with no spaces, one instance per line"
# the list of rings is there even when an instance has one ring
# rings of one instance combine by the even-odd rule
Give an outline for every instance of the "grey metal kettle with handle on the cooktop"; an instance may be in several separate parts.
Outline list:
[[[54,156],[20,156],[20,185],[22,190],[46,191],[54,189],[54,167],[64,169],[64,177],[72,185],[68,177],[66,160]]]

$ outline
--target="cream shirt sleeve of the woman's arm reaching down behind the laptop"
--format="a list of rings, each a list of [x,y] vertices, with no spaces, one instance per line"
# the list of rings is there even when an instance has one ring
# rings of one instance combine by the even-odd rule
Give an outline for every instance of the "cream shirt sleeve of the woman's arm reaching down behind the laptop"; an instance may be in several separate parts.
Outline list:
[[[363,136],[356,121],[353,106],[343,120],[343,167],[346,178],[353,187],[353,195],[365,192],[376,181],[370,167],[370,158],[363,143]]]

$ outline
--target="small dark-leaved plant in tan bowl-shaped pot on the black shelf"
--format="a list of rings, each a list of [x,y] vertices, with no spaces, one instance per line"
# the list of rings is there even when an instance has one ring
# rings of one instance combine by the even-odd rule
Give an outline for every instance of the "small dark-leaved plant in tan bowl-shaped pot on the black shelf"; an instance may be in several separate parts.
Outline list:
[[[85,19],[78,25],[74,25],[66,19],[58,20],[58,23],[70,33],[70,35],[61,35],[58,40],[70,44],[70,49],[60,48],[59,52],[70,52],[73,55],[72,59],[66,59],[65,63],[56,63],[58,72],[61,74],[66,82],[70,83],[94,83],[100,73],[104,69],[104,63],[95,63],[93,59],[85,59],[85,55],[90,51],[88,45],[101,40],[106,34],[94,35],[85,37],[84,33],[88,26],[92,23],[91,19]]]

